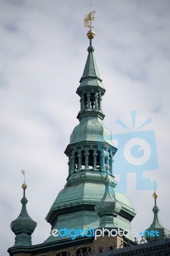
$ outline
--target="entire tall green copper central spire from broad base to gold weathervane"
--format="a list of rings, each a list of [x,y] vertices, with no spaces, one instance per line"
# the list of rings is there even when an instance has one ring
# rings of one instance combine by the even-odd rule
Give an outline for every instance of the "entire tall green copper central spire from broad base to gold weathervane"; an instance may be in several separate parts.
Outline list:
[[[111,131],[103,124],[105,115],[102,111],[102,97],[105,89],[91,43],[95,36],[91,30],[93,13],[90,12],[84,19],[90,29],[87,33],[88,58],[76,92],[81,102],[77,115],[79,124],[74,127],[65,150],[68,157],[67,182],[46,216],[52,230],[64,227],[86,230],[108,226],[130,230],[130,221],[135,216],[127,196],[114,193],[117,182],[114,180],[113,157],[117,148],[112,143]],[[108,180],[105,184],[105,164],[109,166],[109,184]],[[57,243],[62,239],[66,237],[51,235],[45,243]]]

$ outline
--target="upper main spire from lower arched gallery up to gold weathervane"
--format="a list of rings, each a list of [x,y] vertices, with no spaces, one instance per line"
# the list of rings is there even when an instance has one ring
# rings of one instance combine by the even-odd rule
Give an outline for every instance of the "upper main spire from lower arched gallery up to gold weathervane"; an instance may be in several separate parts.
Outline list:
[[[112,144],[111,131],[102,122],[105,116],[102,111],[102,96],[105,89],[93,55],[92,40],[95,32],[91,30],[91,21],[95,19],[94,13],[95,11],[90,11],[84,19],[85,26],[90,29],[87,33],[88,59],[76,92],[81,98],[81,110],[77,115],[80,123],[73,129],[70,144],[65,150],[68,156],[69,176],[82,170],[105,172],[104,164],[111,166],[112,175],[113,157],[117,150]]]

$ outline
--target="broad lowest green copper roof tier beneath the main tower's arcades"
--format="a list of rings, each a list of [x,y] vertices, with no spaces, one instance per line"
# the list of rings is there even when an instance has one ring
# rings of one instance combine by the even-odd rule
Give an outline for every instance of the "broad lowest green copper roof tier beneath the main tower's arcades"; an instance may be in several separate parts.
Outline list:
[[[82,175],[82,179],[81,178]],[[84,175],[84,176],[83,176]],[[95,177],[93,177],[93,175]],[[114,178],[109,177],[110,182],[114,184]],[[58,197],[54,201],[49,214],[46,217],[50,221],[52,214],[58,216],[58,220],[54,224],[54,228],[98,228],[100,218],[95,212],[95,205],[105,194],[105,174],[98,172],[79,172],[75,173],[68,179],[66,187],[59,192]],[[114,188],[110,186],[110,193],[116,202],[121,204],[121,211],[118,215],[118,227],[130,230],[130,221],[135,216],[135,211],[128,200],[127,196],[121,193],[114,193]],[[79,205],[80,209],[76,209]],[[85,206],[91,205],[92,209],[84,209]],[[66,212],[66,208],[69,212]],[[63,211],[61,211],[63,209]],[[59,212],[59,214],[58,214]],[[125,218],[127,214],[127,218]],[[75,220],[75,221],[73,221]],[[50,236],[45,243],[61,239],[62,237]]]

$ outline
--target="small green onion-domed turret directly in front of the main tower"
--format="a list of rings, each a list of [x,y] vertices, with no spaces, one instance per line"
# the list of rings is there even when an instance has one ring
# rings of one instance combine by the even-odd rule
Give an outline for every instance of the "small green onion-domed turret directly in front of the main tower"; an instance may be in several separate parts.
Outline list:
[[[100,216],[100,226],[99,228],[117,228],[118,220],[117,216],[121,211],[121,204],[115,200],[111,195],[108,170],[109,165],[105,164],[105,170],[107,172],[107,177],[105,179],[105,193],[100,202],[95,205],[95,212]]]

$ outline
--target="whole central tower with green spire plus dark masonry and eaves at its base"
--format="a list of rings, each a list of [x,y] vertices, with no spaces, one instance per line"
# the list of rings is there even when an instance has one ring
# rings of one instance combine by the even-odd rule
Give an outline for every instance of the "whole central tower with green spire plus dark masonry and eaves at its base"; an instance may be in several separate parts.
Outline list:
[[[94,13],[90,12],[84,19],[85,26],[89,28],[89,46],[76,92],[81,102],[77,115],[79,124],[73,129],[65,150],[68,157],[65,188],[59,192],[46,216],[51,225],[51,234],[42,244],[18,244],[17,251],[10,248],[10,255],[83,256],[101,243],[105,247],[109,241],[111,244],[133,243],[130,236],[113,238],[105,234],[97,240],[94,237],[95,230],[98,229],[100,233],[101,228],[130,231],[130,222],[136,214],[127,196],[115,190],[117,182],[114,180],[113,159],[117,148],[112,144],[111,131],[103,124],[102,97],[105,88],[92,45],[95,33],[91,21]],[[33,223],[30,225],[32,232]],[[76,234],[73,230],[76,230]],[[83,235],[85,230],[86,236]]]

